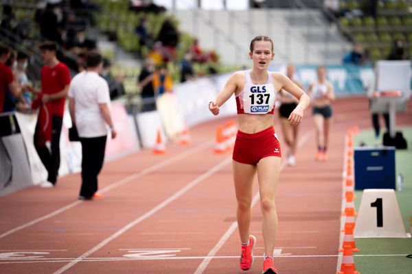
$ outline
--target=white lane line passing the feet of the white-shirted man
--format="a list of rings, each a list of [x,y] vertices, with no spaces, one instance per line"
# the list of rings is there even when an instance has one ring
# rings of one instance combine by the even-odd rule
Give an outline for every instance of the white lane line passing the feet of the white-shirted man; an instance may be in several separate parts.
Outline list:
[[[143,177],[144,175],[147,175],[148,173],[152,173],[153,171],[157,171],[158,169],[161,169],[164,166],[167,166],[168,164],[172,164],[174,162],[177,162],[189,155],[192,155],[194,153],[196,153],[197,151],[204,149],[205,147],[210,146],[211,144],[213,144],[213,141],[209,141],[209,142],[205,142],[202,145],[198,145],[198,147],[194,147],[193,149],[187,150],[179,155],[176,155],[168,160],[164,160],[163,162],[159,162],[158,164],[155,164],[153,166],[148,167],[147,169],[144,169],[143,171],[139,171],[138,173],[135,173],[133,175],[129,175],[128,177],[124,178],[124,179],[120,179],[119,181],[106,186],[105,188],[103,188],[102,190],[100,190],[100,193],[105,193],[108,192],[110,190],[113,190],[113,188],[117,188],[119,186],[122,186],[124,184],[127,184],[131,181],[133,181],[134,179],[138,179],[139,177]],[[16,227],[14,229],[9,230],[8,232],[4,232],[3,234],[0,234],[0,239],[4,238],[5,236],[8,236],[14,232],[18,232],[21,229],[25,229],[26,227],[30,227],[32,225],[35,225],[36,223],[39,223],[41,221],[45,221],[49,218],[52,218],[53,216],[56,216],[62,212],[65,212],[66,210],[69,210],[71,208],[74,208],[75,206],[80,205],[80,203],[84,203],[84,201],[74,201],[73,203],[70,203],[67,206],[64,206],[58,210],[55,210],[54,212],[51,212],[49,214],[46,214],[45,216],[41,216],[37,219],[34,219],[33,221],[30,221],[28,223],[25,223],[23,225],[20,225],[19,227]]]

